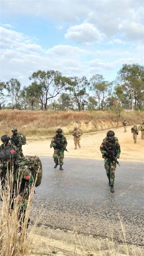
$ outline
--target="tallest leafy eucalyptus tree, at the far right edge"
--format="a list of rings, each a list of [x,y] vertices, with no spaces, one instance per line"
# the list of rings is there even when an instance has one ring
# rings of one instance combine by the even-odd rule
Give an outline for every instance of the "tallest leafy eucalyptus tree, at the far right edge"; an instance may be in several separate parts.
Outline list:
[[[118,77],[122,82],[123,90],[130,96],[133,110],[140,82],[143,85],[144,67],[139,64],[124,64],[118,72]]]

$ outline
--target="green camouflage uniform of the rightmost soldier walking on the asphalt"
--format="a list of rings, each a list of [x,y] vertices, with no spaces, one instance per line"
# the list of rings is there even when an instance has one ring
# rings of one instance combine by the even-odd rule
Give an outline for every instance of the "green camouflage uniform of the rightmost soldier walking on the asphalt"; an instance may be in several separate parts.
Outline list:
[[[100,151],[102,153],[102,157],[105,160],[105,170],[106,170],[106,174],[108,176],[108,179],[110,181],[110,185],[114,184],[115,181],[115,169],[116,169],[116,163],[113,162],[112,158],[109,156],[108,158],[105,156],[106,151],[105,149],[103,149],[103,146],[107,146],[107,148],[109,150],[112,150],[114,152],[114,156],[115,158],[119,158],[120,153],[121,153],[121,149],[120,149],[120,145],[118,142],[118,138],[114,137],[114,140],[112,142],[110,142],[108,140],[108,137],[106,137],[103,142],[101,143],[100,146]]]

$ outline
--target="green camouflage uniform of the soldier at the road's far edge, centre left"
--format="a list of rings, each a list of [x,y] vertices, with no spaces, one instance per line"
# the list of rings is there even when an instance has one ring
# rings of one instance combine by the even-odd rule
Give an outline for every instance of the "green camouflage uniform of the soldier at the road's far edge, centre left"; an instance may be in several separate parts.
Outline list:
[[[54,162],[57,165],[58,164],[63,165],[64,150],[54,142],[55,140],[57,140],[60,144],[63,144],[63,146],[66,147],[67,139],[63,135],[61,137],[59,137],[58,135],[54,135],[50,143],[50,148],[52,147],[54,148],[54,153],[53,153]]]

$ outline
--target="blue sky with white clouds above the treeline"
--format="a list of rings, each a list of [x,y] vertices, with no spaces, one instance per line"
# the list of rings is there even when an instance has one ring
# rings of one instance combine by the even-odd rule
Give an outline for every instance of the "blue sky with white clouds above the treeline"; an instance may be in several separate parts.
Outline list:
[[[0,79],[29,86],[38,70],[103,75],[144,60],[141,0],[0,0]]]

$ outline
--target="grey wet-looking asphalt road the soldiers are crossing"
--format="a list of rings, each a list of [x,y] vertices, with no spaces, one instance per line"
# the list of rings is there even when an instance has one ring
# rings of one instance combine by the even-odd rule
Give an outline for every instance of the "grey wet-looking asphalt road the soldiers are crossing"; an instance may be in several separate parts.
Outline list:
[[[122,241],[118,213],[129,244],[142,245],[143,163],[121,162],[110,192],[103,160],[64,158],[63,171],[52,157],[40,157],[43,180],[35,189],[31,220],[40,225]],[[122,235],[122,237],[121,237]]]

